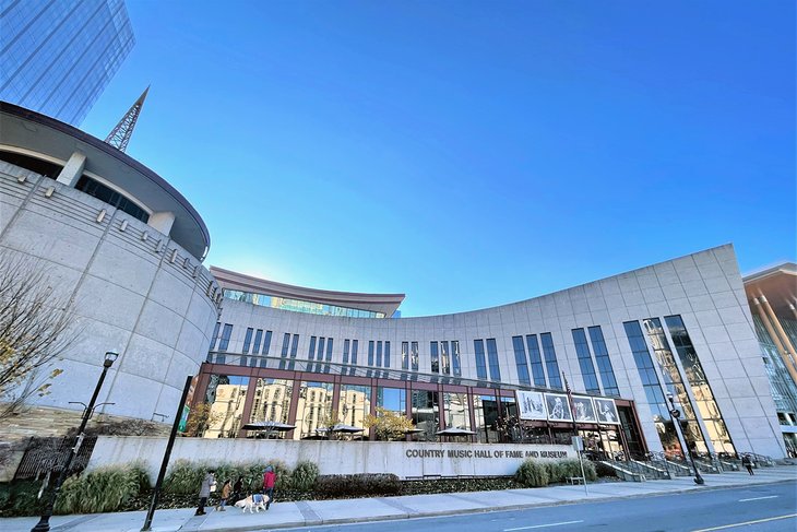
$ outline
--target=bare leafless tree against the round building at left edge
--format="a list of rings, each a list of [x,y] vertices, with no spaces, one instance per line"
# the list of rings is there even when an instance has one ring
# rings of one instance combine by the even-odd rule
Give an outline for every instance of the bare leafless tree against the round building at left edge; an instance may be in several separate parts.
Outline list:
[[[68,297],[53,296],[46,265],[0,250],[0,421],[49,393],[62,370],[43,371],[78,334],[68,331],[72,308]]]

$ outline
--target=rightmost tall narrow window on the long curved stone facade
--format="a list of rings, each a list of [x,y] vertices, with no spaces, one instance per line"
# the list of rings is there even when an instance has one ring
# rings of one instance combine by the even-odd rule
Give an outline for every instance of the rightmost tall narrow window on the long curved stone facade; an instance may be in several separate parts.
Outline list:
[[[703,425],[709,431],[709,439],[714,446],[714,451],[736,453],[725,421],[719,412],[719,405],[714,400],[714,392],[709,386],[705,371],[703,371],[703,364],[700,362],[698,352],[689,338],[683,320],[680,316],[666,316],[664,322],[667,323],[669,334],[673,336],[675,350],[686,373],[692,395],[694,395],[698,403],[697,410],[703,418]]]

